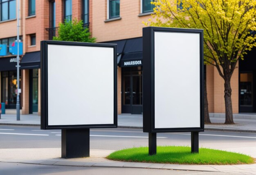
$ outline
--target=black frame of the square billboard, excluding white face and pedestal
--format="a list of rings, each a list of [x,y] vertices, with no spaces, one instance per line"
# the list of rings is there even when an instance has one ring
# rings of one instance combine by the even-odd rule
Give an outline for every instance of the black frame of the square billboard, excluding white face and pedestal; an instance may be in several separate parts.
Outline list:
[[[90,124],[90,125],[48,125],[48,72],[47,72],[47,61],[48,61],[48,48],[47,45],[70,45],[70,46],[85,46],[85,47],[112,47],[114,49],[114,122],[113,124]],[[70,42],[70,41],[53,41],[43,40],[41,41],[41,129],[88,129],[88,128],[117,128],[117,56],[116,56],[116,45],[115,44],[101,44],[101,43],[81,43],[81,42]]]

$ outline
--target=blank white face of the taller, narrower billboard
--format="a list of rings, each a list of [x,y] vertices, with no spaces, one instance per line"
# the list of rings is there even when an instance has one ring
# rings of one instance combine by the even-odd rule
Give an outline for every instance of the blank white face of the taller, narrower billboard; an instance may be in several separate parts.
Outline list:
[[[154,32],[155,128],[200,128],[200,34]]]

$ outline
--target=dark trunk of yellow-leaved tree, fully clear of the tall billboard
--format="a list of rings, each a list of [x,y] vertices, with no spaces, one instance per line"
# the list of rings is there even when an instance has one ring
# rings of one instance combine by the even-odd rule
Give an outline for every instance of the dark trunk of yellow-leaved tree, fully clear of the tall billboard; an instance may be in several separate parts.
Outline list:
[[[234,124],[233,121],[233,111],[232,111],[232,102],[231,102],[231,86],[230,86],[230,79],[225,79],[224,83],[225,87],[225,112],[226,112],[226,120],[225,124]]]

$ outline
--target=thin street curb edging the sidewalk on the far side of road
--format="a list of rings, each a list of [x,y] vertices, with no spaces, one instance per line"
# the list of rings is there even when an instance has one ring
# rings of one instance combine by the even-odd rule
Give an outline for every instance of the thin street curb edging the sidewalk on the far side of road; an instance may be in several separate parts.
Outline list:
[[[40,124],[26,124],[26,123],[0,123],[0,125],[12,125],[12,126],[41,126]],[[117,126],[117,128],[129,128],[129,129],[143,129],[141,126]],[[211,131],[229,131],[229,132],[251,132],[256,133],[256,130],[239,130],[228,128],[204,128],[204,130]]]

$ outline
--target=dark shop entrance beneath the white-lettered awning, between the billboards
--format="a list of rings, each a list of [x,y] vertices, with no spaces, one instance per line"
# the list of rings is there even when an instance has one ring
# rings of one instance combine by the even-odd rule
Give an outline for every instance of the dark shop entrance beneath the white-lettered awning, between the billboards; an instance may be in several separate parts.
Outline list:
[[[141,67],[122,68],[122,113],[142,114]]]

